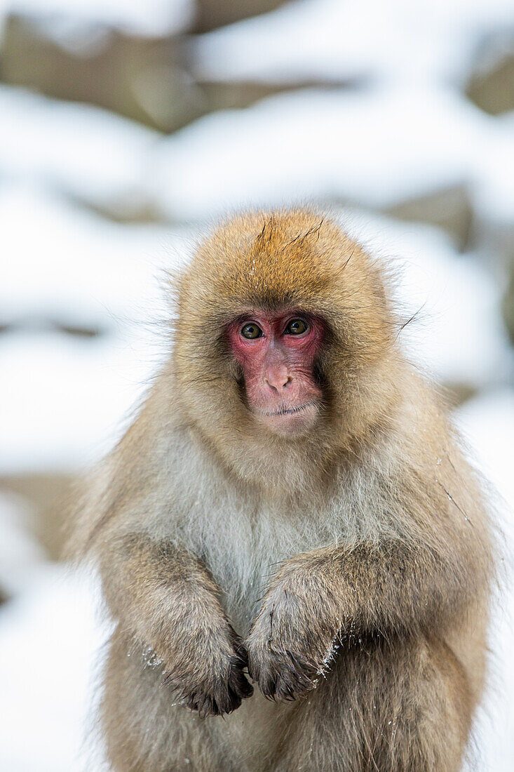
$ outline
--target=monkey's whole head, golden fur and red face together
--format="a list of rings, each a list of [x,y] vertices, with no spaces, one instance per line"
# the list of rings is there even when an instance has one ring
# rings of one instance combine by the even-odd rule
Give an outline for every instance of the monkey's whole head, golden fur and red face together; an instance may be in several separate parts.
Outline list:
[[[303,485],[391,413],[397,327],[382,269],[335,222],[233,218],[177,286],[177,400],[243,479]]]

